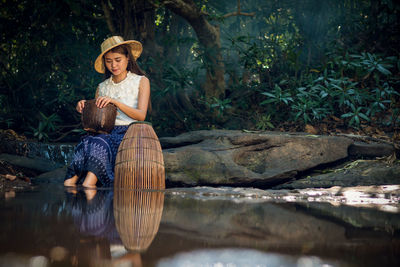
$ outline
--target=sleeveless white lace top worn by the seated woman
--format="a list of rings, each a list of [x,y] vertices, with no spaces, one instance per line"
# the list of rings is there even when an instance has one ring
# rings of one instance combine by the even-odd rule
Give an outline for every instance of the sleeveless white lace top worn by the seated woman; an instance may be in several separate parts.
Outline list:
[[[139,83],[143,76],[128,72],[126,78],[115,83],[112,77],[99,84],[99,96],[108,96],[130,107],[137,108]],[[128,125],[136,120],[118,109],[115,125]]]

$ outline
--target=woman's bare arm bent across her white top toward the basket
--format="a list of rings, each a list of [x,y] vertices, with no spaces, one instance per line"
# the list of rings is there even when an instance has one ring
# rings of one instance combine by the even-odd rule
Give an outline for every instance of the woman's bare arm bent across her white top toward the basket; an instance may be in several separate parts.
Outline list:
[[[115,99],[107,96],[98,97],[96,105],[99,108],[105,107],[108,103],[116,105],[122,112],[138,121],[144,121],[146,119],[147,107],[150,99],[150,81],[147,77],[143,76],[139,83],[139,96],[138,96],[138,108],[132,108],[124,103],[121,103]]]

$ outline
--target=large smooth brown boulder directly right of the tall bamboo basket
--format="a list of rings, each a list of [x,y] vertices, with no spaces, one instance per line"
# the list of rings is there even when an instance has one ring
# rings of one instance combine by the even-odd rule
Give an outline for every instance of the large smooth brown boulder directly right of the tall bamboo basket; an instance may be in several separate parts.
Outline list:
[[[345,137],[242,131],[194,131],[160,138],[167,182],[270,186],[348,156]]]

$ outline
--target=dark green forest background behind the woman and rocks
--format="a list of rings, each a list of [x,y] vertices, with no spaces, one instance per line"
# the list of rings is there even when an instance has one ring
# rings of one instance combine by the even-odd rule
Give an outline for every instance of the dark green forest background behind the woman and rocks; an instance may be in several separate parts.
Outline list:
[[[398,136],[400,4],[392,0],[0,0],[0,129],[83,134],[80,99],[111,35],[143,43],[148,121],[199,129]]]

